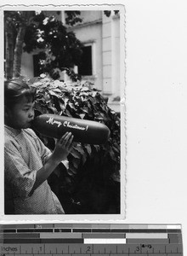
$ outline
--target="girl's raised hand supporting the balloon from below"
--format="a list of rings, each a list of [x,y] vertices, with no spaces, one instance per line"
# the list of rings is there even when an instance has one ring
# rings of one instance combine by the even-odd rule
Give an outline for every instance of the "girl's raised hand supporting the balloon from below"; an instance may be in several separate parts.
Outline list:
[[[65,135],[63,135],[56,143],[51,158],[58,163],[60,163],[62,160],[65,160],[68,154],[71,152],[72,141],[73,135],[71,132],[66,132]]]

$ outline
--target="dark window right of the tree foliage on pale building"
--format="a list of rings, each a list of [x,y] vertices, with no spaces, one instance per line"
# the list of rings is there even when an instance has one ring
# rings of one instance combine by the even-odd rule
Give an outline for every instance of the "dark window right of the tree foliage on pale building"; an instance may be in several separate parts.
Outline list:
[[[92,65],[92,45],[84,46],[82,48],[82,63],[78,66],[78,73],[82,76],[92,76],[93,75],[93,65]]]

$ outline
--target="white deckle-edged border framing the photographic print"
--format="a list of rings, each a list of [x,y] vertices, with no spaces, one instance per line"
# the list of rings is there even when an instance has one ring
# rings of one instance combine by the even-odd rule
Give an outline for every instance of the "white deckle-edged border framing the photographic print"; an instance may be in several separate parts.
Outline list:
[[[1,38],[2,38],[2,46],[1,46],[1,60],[4,60],[4,53],[3,53],[3,11],[4,10],[59,10],[59,9],[77,9],[77,10],[116,10],[119,9],[121,13],[120,18],[120,87],[121,87],[121,104],[120,104],[120,110],[121,110],[121,213],[120,214],[63,214],[63,215],[6,215],[4,214],[4,176],[3,176],[3,165],[2,165],[2,172],[0,177],[0,221],[8,221],[8,223],[12,222],[35,222],[35,223],[42,223],[42,222],[90,222],[90,221],[97,221],[97,222],[113,222],[117,220],[125,220],[126,218],[126,123],[125,123],[125,85],[126,85],[126,79],[125,79],[125,73],[126,73],[126,65],[125,65],[125,59],[126,59],[126,50],[125,50],[125,6],[122,4],[87,4],[87,5],[3,5],[0,6],[0,32],[1,32]],[[3,84],[4,80],[4,71],[3,71],[3,61],[0,63],[1,68],[1,84]],[[3,86],[1,86],[1,94],[0,94],[0,100],[1,104],[3,106]],[[1,124],[3,124],[3,108],[0,110],[0,119]],[[3,125],[1,125],[3,129]],[[3,134],[3,131],[2,131]],[[3,139],[2,143],[0,143],[1,146],[1,158],[3,163]]]

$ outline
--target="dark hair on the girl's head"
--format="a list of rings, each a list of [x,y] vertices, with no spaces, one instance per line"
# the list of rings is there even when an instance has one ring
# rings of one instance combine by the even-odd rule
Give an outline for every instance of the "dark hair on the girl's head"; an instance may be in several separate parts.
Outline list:
[[[25,79],[11,79],[4,82],[4,105],[13,108],[26,96],[28,102],[34,102],[35,90],[26,83]]]

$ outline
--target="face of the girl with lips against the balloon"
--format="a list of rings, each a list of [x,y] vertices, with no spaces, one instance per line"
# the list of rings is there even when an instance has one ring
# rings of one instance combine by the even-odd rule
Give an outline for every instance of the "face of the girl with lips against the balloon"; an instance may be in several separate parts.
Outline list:
[[[31,127],[34,119],[34,102],[29,102],[24,96],[13,108],[5,111],[5,124],[14,129],[26,129]]]

